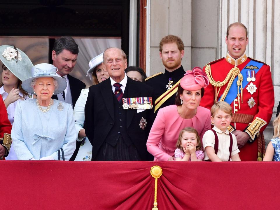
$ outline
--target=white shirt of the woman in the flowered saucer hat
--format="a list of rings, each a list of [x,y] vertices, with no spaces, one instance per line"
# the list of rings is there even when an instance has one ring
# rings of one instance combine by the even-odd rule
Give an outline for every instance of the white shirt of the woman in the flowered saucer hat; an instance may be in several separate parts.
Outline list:
[[[1,94],[1,96],[3,98],[3,100],[5,100],[7,98],[7,96],[8,96],[8,93],[4,90],[4,85],[0,88],[0,94]],[[8,120],[10,121],[10,123],[12,125],[14,123],[15,107],[17,105],[17,102],[33,98],[32,94],[28,94],[27,96],[23,97],[23,93],[20,90],[19,90],[19,94],[18,95],[20,95],[21,98],[16,100],[15,102],[11,103],[8,106],[8,108],[7,108]],[[7,157],[5,157],[5,159],[6,160],[18,160],[17,155],[15,154],[13,143],[11,145],[9,155]]]

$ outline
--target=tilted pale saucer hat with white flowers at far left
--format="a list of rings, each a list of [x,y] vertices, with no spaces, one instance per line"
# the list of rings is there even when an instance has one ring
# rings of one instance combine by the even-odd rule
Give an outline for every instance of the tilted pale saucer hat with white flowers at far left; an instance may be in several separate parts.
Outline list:
[[[21,81],[32,76],[33,64],[20,49],[9,45],[0,46],[0,60]],[[3,70],[2,67],[0,69]]]

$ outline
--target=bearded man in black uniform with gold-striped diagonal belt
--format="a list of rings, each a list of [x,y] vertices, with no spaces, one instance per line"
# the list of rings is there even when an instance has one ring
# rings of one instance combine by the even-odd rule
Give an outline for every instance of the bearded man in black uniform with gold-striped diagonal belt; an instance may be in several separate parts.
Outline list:
[[[184,43],[181,38],[168,35],[160,41],[160,58],[165,67],[164,74],[156,73],[146,78],[145,83],[154,88],[155,116],[159,108],[175,104],[176,92],[185,71],[181,64]]]

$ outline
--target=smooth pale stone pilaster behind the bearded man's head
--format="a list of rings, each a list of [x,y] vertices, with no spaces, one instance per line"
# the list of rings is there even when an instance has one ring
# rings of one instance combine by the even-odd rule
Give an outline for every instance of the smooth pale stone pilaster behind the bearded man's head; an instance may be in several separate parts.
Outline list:
[[[150,68],[148,71],[150,75],[164,71],[164,66],[159,56],[159,43],[168,34],[179,36],[184,42],[185,55],[182,65],[184,69],[190,69],[191,5],[191,0],[150,0],[150,63],[147,65],[147,68]]]

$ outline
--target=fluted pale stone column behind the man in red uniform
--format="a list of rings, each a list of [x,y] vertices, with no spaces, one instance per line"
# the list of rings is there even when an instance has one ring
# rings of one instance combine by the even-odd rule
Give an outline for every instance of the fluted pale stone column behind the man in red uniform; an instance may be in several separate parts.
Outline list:
[[[275,118],[276,108],[280,98],[280,41],[274,34],[280,32],[280,2],[273,0],[219,0],[219,34],[217,51],[220,56],[226,55],[227,46],[223,39],[226,36],[226,28],[230,23],[241,22],[248,29],[249,43],[246,54],[254,59],[266,62],[271,67],[274,84],[275,104],[272,120]],[[219,49],[220,48],[220,49]],[[217,57],[218,58],[218,57]],[[271,120],[271,122],[272,122]],[[272,138],[273,127],[271,122],[265,129],[267,142]]]

